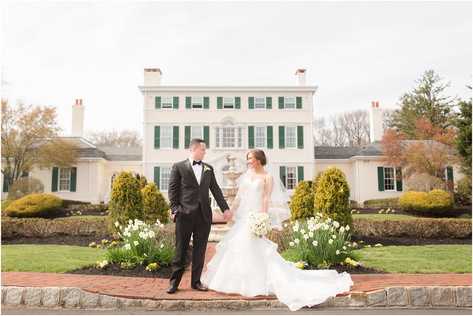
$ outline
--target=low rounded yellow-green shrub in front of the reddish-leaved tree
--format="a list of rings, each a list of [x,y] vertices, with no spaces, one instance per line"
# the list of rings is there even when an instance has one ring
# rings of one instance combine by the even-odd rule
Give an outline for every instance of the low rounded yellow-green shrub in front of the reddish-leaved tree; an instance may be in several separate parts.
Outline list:
[[[429,193],[408,191],[399,197],[399,207],[407,212],[438,215],[451,211],[453,206],[452,197],[440,189]]]

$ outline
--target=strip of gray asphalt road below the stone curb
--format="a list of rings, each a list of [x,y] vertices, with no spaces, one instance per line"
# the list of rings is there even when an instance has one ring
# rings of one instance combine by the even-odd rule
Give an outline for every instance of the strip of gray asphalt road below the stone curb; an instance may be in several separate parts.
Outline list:
[[[178,309],[156,310],[128,309],[79,309],[79,308],[27,308],[1,307],[2,315],[472,315],[471,308],[301,308],[289,309]]]

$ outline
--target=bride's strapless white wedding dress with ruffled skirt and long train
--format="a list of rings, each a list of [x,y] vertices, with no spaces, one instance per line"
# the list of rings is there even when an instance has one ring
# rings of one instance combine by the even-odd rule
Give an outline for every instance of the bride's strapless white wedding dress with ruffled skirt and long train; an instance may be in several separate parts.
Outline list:
[[[300,270],[277,252],[278,245],[251,234],[249,215],[263,208],[265,182],[243,181],[245,195],[235,211],[236,223],[215,246],[201,282],[211,290],[245,297],[276,295],[290,310],[312,307],[350,290],[350,274],[334,270]]]

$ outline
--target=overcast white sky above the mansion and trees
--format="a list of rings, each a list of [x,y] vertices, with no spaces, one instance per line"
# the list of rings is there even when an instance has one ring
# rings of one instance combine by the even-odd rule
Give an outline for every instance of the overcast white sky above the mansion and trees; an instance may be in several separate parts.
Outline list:
[[[295,85],[315,115],[394,107],[424,70],[471,97],[472,2],[1,2],[2,96],[54,105],[70,134],[142,132],[143,68],[162,85]]]

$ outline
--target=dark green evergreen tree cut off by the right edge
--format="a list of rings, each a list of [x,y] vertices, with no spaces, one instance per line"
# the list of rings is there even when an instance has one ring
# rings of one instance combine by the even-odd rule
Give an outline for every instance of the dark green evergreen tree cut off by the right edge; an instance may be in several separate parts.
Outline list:
[[[470,90],[472,87],[467,86]],[[453,144],[458,155],[462,158],[460,161],[461,171],[465,176],[472,176],[472,98],[466,102],[461,100],[458,103],[460,114],[453,121],[458,128],[457,137]]]

